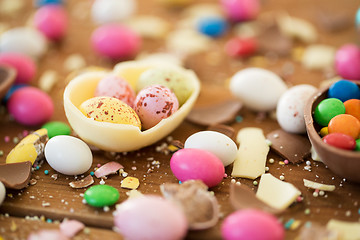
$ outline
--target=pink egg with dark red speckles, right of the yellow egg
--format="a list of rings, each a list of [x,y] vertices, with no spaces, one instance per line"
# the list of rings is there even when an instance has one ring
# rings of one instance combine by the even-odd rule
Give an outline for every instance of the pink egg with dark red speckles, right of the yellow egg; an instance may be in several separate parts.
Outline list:
[[[138,93],[134,109],[143,129],[149,129],[175,113],[179,109],[179,101],[169,88],[152,85]]]

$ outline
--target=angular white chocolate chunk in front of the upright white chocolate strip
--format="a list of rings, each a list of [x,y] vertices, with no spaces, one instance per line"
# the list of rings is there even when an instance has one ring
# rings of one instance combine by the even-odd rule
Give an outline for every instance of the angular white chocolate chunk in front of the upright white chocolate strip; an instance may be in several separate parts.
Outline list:
[[[281,181],[270,173],[266,173],[261,175],[256,197],[273,208],[284,210],[300,194],[301,192],[291,183]]]

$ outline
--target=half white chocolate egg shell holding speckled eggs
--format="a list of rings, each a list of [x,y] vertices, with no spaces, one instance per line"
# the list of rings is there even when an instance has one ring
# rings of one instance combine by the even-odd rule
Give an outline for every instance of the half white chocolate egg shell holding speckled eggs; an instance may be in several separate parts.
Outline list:
[[[139,66],[151,68],[159,66],[159,63],[149,62],[125,62],[125,66]],[[120,68],[123,63],[118,64]],[[166,66],[168,66],[166,64]],[[170,66],[169,66],[170,67]],[[191,70],[172,65],[172,68],[182,71],[193,81],[193,92],[187,101],[170,117],[161,120],[156,126],[141,131],[139,128],[108,122],[98,122],[87,118],[79,110],[79,106],[85,100],[94,96],[98,82],[105,77],[107,72],[87,72],[72,79],[64,91],[64,108],[66,117],[74,131],[88,144],[94,145],[105,151],[126,152],[134,151],[149,146],[169,135],[175,130],[191,111],[200,93],[200,81]]]

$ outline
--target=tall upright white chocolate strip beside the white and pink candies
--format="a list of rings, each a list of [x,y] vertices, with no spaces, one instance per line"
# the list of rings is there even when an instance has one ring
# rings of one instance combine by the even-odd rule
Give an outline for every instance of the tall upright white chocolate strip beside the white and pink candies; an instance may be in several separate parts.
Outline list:
[[[231,176],[255,179],[265,173],[269,145],[260,128],[243,128],[237,135],[240,148],[234,161]]]

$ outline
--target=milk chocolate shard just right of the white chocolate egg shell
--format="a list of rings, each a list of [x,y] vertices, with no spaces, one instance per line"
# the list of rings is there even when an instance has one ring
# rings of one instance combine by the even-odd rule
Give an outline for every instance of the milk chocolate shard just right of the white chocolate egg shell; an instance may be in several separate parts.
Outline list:
[[[194,108],[186,119],[204,126],[229,123],[234,121],[241,107],[242,103],[239,100],[230,99],[211,106]]]

